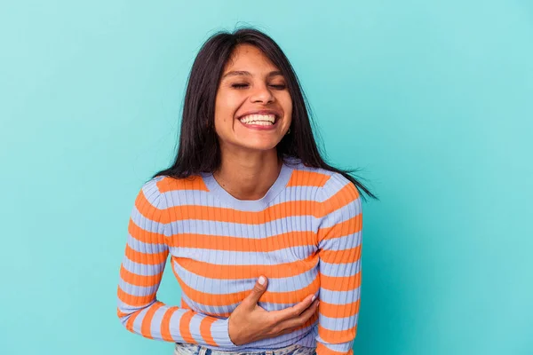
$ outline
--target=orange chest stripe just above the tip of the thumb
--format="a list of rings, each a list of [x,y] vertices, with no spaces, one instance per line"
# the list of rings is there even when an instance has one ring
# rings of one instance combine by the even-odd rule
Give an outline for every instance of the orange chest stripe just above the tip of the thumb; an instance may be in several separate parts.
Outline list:
[[[259,278],[261,275],[265,275],[267,278],[292,277],[313,269],[318,263],[318,260],[319,256],[315,254],[304,260],[275,265],[220,265],[172,256],[172,261],[178,263],[188,272],[218,280],[253,279]]]

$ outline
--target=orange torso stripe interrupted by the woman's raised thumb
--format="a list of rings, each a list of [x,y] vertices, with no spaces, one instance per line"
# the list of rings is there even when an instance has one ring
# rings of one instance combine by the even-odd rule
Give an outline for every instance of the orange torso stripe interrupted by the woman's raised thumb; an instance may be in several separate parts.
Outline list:
[[[250,290],[235,292],[230,294],[209,294],[206,292],[195,290],[189,287],[174,269],[174,275],[178,279],[181,291],[187,295],[191,300],[199,304],[210,304],[212,306],[221,306],[228,304],[235,304],[243,301],[243,299],[250,294]],[[315,293],[320,288],[320,278],[315,278],[313,282],[305,288],[300,288],[296,291],[289,292],[269,292],[268,290],[259,298],[259,302],[268,302],[272,304],[296,304],[301,302],[306,296]]]

